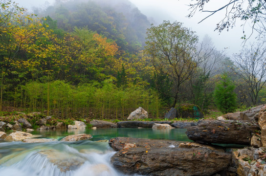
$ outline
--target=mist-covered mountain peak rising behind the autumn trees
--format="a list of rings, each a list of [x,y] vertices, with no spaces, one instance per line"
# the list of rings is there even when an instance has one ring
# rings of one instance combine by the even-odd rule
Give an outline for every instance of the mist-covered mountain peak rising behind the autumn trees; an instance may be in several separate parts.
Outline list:
[[[147,17],[128,0],[57,0],[40,14],[67,32],[75,26],[88,27],[129,51],[143,48],[150,27]]]

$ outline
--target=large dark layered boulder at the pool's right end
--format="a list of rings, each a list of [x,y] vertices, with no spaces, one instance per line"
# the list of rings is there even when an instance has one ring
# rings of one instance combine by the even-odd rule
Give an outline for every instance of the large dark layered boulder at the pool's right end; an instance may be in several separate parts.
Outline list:
[[[249,145],[252,133],[259,131],[256,122],[238,120],[201,120],[197,126],[189,127],[189,139],[199,143]]]

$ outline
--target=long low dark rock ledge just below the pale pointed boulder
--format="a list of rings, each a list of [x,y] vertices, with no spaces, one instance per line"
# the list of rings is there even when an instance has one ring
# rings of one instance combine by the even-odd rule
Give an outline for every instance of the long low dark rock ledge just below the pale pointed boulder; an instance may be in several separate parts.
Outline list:
[[[120,121],[117,122],[118,128],[153,128],[155,123],[171,124],[171,121]]]

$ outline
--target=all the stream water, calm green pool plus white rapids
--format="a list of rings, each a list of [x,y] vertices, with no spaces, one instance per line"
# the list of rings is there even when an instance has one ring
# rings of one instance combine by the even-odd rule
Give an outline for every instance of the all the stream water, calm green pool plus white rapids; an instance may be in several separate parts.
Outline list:
[[[43,138],[62,139],[88,133],[91,140],[23,143],[0,140],[0,176],[124,176],[110,164],[115,152],[108,139],[117,136],[189,141],[186,129],[97,129],[86,131],[32,132]]]

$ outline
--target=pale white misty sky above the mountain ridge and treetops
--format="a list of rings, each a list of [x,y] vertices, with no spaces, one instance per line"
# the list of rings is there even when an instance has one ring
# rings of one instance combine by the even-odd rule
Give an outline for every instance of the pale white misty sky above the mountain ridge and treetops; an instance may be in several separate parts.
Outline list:
[[[16,0],[20,5],[25,7],[38,6],[43,5],[45,2],[49,2],[52,4],[55,0]],[[163,20],[169,20],[171,22],[183,22],[183,26],[190,28],[195,31],[199,36],[199,39],[202,40],[205,35],[211,37],[213,44],[217,47],[217,49],[223,51],[228,56],[232,57],[234,53],[239,53],[242,45],[243,39],[243,27],[241,27],[241,23],[238,22],[233,29],[229,31],[222,31],[219,33],[218,31],[214,31],[216,24],[220,22],[220,20],[224,16],[224,12],[219,12],[214,16],[200,22],[204,17],[206,17],[207,13],[196,13],[196,15],[192,18],[187,18],[186,16],[189,14],[189,6],[190,0],[130,0],[133,4],[135,4],[138,9],[146,15],[148,18],[152,18],[155,22],[162,22]],[[225,1],[226,2],[226,1]],[[211,0],[207,3],[206,7],[208,9],[218,9],[224,3],[222,0]],[[245,29],[245,32],[250,32]],[[255,41],[254,36],[249,39],[248,43],[252,43]]]

